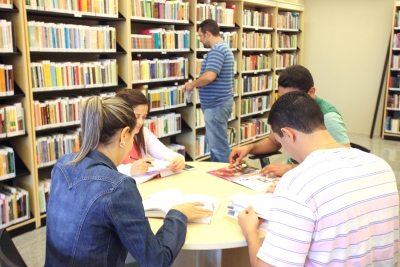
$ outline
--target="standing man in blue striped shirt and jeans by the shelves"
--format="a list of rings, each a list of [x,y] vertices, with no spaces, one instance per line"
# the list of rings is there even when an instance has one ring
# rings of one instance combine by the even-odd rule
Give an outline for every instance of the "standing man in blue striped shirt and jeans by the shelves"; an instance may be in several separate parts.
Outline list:
[[[235,62],[231,49],[219,35],[217,22],[206,19],[197,32],[204,47],[211,49],[204,57],[200,77],[192,83],[185,83],[184,91],[192,91],[195,87],[199,90],[210,161],[229,162],[231,150],[226,131],[232,113]]]

